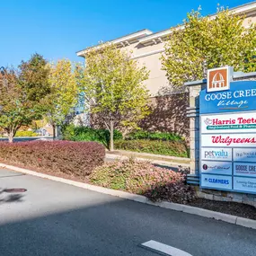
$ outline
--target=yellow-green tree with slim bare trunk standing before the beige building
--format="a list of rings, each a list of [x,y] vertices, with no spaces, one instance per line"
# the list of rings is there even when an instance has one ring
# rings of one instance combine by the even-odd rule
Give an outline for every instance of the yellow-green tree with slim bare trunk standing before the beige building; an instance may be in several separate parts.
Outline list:
[[[148,113],[149,93],[146,67],[139,67],[128,52],[113,44],[88,50],[81,86],[90,112],[110,131],[110,150],[114,149],[113,131],[118,125],[137,128],[137,121]]]

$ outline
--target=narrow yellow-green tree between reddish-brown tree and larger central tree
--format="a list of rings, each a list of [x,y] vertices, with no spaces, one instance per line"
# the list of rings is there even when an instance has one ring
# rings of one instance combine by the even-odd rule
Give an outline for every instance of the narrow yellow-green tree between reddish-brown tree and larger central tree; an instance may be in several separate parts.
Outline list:
[[[53,137],[56,137],[56,127],[63,124],[78,101],[75,71],[69,60],[62,59],[50,64],[49,84],[51,93],[47,97],[46,119],[53,128]]]

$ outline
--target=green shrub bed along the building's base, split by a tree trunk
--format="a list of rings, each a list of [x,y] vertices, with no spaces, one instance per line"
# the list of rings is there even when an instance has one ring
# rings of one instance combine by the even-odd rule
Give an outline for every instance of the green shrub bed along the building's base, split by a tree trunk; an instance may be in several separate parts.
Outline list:
[[[110,132],[106,129],[69,125],[63,130],[63,137],[72,141],[97,141],[106,148],[110,148]],[[114,130],[114,146],[116,149],[139,153],[190,156],[190,150],[184,137],[168,132],[139,130],[123,137],[119,130]]]

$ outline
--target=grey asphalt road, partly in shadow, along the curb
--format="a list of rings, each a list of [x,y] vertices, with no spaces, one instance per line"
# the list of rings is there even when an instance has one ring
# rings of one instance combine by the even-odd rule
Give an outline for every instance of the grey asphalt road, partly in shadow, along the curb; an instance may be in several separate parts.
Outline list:
[[[0,170],[0,255],[157,256],[154,240],[193,256],[255,256],[256,231]],[[3,190],[24,188],[22,193]]]

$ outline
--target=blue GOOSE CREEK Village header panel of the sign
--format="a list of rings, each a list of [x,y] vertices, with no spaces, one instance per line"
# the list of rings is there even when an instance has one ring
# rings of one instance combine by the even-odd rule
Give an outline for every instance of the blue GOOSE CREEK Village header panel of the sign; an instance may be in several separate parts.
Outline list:
[[[230,90],[200,92],[200,114],[256,110],[256,81],[230,83]]]

